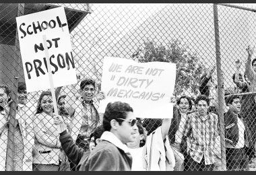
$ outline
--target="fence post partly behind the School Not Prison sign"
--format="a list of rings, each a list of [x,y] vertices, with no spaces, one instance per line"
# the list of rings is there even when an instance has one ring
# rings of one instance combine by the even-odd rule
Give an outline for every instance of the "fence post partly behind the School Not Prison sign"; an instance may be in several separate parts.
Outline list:
[[[24,3],[18,4],[18,16],[24,14]],[[18,38],[18,28],[16,29],[16,36],[15,36],[15,57],[12,65],[12,73],[13,81],[11,85],[11,104],[10,104],[10,111],[9,111],[9,129],[8,129],[8,141],[7,141],[7,148],[8,148],[8,155],[6,156],[6,170],[7,171],[14,171],[15,165],[13,162],[13,150],[14,150],[14,131],[15,131],[15,114],[17,108],[17,95],[18,95],[18,78],[20,72],[20,64],[21,64],[21,56],[20,56],[20,43]],[[10,77],[11,78],[11,77]]]

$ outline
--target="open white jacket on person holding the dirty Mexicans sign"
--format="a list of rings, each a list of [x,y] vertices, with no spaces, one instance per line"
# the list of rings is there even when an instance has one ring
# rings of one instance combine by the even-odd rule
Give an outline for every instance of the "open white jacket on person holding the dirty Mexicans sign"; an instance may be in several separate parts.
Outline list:
[[[161,127],[158,127],[147,137],[143,149],[143,168],[145,170],[173,171],[175,166],[174,153],[170,147],[168,136],[165,140],[165,142],[162,141]]]

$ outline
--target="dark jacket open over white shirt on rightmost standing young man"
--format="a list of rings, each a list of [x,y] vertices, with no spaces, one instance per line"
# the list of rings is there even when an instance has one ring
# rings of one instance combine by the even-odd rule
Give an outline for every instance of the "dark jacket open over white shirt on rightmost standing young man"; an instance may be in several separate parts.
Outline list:
[[[253,146],[253,140],[251,137],[251,131],[248,128],[247,122],[241,117],[240,114],[238,114],[238,117],[241,118],[243,121],[243,124],[245,125],[245,147],[252,147]],[[225,140],[226,145],[232,145],[233,147],[236,146],[238,143],[238,120],[234,112],[231,110],[228,110],[224,114],[224,122],[225,122]]]

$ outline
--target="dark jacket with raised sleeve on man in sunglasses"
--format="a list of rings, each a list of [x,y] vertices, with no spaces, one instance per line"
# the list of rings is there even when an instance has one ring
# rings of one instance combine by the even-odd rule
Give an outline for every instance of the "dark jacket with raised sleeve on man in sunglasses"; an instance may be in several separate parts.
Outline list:
[[[95,149],[84,151],[75,145],[67,131],[60,134],[59,140],[65,154],[76,164],[79,171],[129,171],[132,159],[122,150],[108,141],[100,141]]]

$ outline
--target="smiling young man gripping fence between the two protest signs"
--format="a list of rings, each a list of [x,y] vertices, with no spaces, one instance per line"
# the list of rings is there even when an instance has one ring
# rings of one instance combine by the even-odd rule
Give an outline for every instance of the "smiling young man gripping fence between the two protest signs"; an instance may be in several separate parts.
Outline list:
[[[75,90],[72,87],[67,89]],[[75,94],[75,92],[72,93]],[[75,110],[71,118],[71,137],[79,147],[86,151],[89,149],[90,135],[100,125],[100,114],[97,110],[98,101],[104,99],[104,94],[102,92],[96,94],[96,83],[92,79],[81,81],[79,93],[81,97],[75,101],[73,101],[74,98],[70,96],[70,93],[66,93],[65,107]]]

